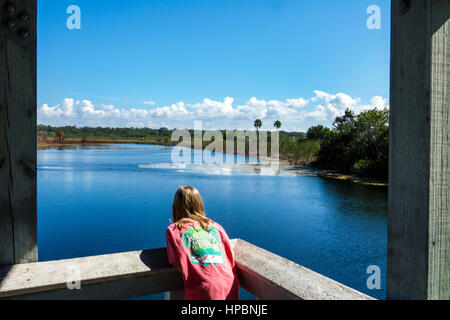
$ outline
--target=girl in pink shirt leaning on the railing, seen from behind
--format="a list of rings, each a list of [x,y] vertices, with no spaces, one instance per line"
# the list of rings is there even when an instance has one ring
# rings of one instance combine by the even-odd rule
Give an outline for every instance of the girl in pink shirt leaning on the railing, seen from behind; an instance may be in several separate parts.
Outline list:
[[[186,300],[238,300],[239,282],[225,230],[206,218],[197,189],[181,187],[167,228],[169,263],[183,275]]]

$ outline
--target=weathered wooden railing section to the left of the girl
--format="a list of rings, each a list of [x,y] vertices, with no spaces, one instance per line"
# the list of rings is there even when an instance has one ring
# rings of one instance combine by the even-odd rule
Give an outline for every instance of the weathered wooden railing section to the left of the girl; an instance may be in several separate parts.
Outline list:
[[[81,289],[69,290],[75,280]],[[166,249],[0,268],[0,299],[126,299],[183,288]]]

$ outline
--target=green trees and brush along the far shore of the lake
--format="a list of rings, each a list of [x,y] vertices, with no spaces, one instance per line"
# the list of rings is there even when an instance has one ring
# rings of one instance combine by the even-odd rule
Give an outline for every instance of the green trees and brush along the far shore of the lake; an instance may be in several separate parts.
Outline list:
[[[262,121],[254,122],[256,130]],[[389,159],[389,111],[368,110],[358,115],[346,110],[337,117],[331,128],[314,126],[305,132],[280,130],[280,158],[292,166],[320,169],[319,175],[341,180],[386,185]],[[92,144],[154,144],[175,146],[174,130],[167,128],[92,128],[38,126],[38,148]],[[193,136],[193,130],[190,130]],[[226,150],[226,131],[223,132]],[[204,141],[203,148],[211,141]],[[271,135],[268,136],[270,153]],[[192,148],[194,147],[192,142]],[[236,144],[235,144],[236,145]],[[248,152],[248,138],[245,141]],[[236,147],[236,146],[235,146]],[[235,149],[235,153],[237,148]],[[269,154],[270,155],[270,154]]]

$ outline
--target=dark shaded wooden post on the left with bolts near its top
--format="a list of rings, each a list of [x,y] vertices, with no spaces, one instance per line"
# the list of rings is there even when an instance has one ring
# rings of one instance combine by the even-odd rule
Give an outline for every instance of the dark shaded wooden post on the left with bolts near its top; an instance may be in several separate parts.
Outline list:
[[[36,0],[0,0],[0,265],[37,260]]]

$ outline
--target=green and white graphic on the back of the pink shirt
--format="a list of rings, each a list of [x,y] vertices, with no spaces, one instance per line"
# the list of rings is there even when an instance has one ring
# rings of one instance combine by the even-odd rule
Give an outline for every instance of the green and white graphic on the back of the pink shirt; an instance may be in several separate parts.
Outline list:
[[[189,228],[181,234],[184,247],[190,251],[193,264],[201,264],[205,267],[224,263],[220,250],[220,236],[216,227],[211,227],[207,232],[203,228]]]

